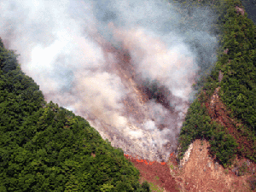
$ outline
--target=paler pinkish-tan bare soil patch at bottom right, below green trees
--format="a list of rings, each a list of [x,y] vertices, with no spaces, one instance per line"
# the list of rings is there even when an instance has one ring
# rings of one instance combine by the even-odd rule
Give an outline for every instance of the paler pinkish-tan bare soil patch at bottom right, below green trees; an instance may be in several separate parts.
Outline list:
[[[178,169],[172,166],[172,176],[182,191],[251,191],[247,179],[250,174],[237,177],[231,169],[224,169],[211,158],[207,141],[195,140],[189,160]],[[167,163],[173,165],[173,161]]]

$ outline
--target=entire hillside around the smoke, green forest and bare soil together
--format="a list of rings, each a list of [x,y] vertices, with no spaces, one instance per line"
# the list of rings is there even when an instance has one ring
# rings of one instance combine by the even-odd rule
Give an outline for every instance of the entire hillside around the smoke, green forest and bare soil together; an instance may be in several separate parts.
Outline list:
[[[179,2],[218,12],[221,46],[212,71],[198,74],[179,148],[162,164],[124,156],[87,120],[45,102],[0,41],[0,191],[256,188],[255,25],[238,0]]]

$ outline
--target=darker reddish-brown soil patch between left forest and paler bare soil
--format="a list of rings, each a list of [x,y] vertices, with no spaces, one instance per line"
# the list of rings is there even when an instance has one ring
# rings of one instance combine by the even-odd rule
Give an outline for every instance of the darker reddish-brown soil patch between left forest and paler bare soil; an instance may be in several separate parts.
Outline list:
[[[147,180],[148,183],[154,183],[165,189],[166,192],[179,191],[177,189],[177,183],[170,173],[170,168],[166,164],[161,165],[160,162],[154,161],[152,165],[147,165],[145,162],[137,162],[137,160],[131,156],[125,157],[140,171],[140,177],[143,181]]]

